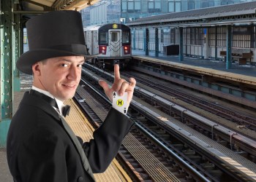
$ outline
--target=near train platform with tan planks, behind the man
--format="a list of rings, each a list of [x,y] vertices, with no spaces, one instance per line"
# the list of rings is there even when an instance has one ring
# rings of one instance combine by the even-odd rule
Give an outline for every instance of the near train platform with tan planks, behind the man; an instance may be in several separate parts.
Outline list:
[[[13,111],[17,111],[20,100],[23,98],[24,92],[31,88],[31,76],[26,74],[20,75],[21,89],[20,92],[14,92]],[[75,135],[79,135],[83,138],[83,141],[89,141],[93,135],[94,128],[90,127],[90,124],[86,117],[83,115],[80,108],[75,104],[73,100],[67,100],[65,104],[71,106],[69,116],[66,117],[67,123],[75,132]],[[113,159],[105,173],[94,174],[95,180],[100,181],[132,181],[123,168],[119,165],[116,159]],[[0,182],[12,182],[12,175],[7,164],[7,151],[4,148],[0,148]]]

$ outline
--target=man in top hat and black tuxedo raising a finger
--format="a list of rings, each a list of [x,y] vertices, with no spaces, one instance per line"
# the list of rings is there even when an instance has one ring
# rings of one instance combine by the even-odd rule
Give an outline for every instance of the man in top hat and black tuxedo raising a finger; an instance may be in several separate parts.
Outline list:
[[[111,108],[94,139],[83,143],[64,120],[63,101],[78,87],[84,57],[88,57],[79,12],[49,12],[26,23],[29,51],[17,67],[33,74],[32,90],[26,92],[7,136],[7,160],[14,181],[94,181],[116,156],[121,141],[132,127],[127,116]],[[112,92],[128,92],[132,100],[135,79],[130,84],[114,67],[112,87],[99,84],[112,100]]]

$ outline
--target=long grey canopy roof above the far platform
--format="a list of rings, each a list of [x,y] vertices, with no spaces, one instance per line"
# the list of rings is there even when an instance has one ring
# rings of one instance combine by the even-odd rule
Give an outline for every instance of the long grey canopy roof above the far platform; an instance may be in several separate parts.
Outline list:
[[[142,17],[127,25],[129,25],[130,28],[252,25],[256,24],[255,9],[256,1],[252,1]]]

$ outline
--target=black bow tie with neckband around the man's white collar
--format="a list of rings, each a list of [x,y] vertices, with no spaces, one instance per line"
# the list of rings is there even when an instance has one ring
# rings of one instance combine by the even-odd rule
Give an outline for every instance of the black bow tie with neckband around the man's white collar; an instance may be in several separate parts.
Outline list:
[[[29,91],[29,94],[31,94],[31,95],[37,95],[37,97],[42,98],[42,99],[45,100],[46,102],[50,103],[50,106],[53,106],[53,107],[59,109],[58,104],[57,104],[57,102],[56,102],[55,99],[50,98],[49,96],[47,96],[47,95],[45,95],[45,94],[42,94],[42,93],[40,93],[40,92],[37,92],[36,90],[30,90],[30,91]],[[64,117],[66,117],[67,115],[69,115],[69,111],[70,111],[70,106],[69,106],[69,105],[64,106],[64,107],[62,108],[62,115],[63,115]]]

